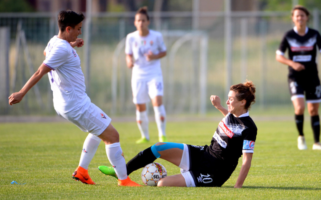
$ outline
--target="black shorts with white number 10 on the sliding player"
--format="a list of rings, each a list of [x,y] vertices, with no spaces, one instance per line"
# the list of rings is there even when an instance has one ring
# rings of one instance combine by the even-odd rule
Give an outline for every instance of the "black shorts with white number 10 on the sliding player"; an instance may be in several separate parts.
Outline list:
[[[190,169],[196,187],[221,187],[231,176],[236,164],[222,164],[217,158],[206,153],[207,145],[187,145]]]

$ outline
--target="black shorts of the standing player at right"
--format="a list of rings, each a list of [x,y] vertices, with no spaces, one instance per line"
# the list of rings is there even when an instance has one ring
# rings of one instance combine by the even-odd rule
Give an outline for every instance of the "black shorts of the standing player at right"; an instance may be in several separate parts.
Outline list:
[[[302,77],[288,77],[289,90],[291,100],[295,96],[303,96],[310,102],[321,101],[321,85],[318,76],[311,76],[309,78]]]

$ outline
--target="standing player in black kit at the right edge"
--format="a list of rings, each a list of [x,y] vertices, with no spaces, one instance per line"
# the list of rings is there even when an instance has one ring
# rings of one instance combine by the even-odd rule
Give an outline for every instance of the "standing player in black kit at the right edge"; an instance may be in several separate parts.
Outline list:
[[[317,46],[320,49],[321,36],[317,30],[307,27],[309,12],[305,7],[297,5],[292,9],[291,14],[295,27],[285,33],[280,47],[276,51],[276,60],[289,66],[289,89],[294,106],[295,123],[299,131],[298,148],[300,150],[307,149],[303,134],[305,93],[314,135],[312,149],[321,150],[318,114],[321,102],[321,85],[316,64]],[[284,57],[286,49],[289,52],[288,59]]]

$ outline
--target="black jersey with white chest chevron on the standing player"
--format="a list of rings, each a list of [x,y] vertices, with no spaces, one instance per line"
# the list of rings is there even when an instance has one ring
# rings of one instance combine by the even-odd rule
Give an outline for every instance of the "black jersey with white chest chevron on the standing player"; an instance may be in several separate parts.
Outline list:
[[[305,66],[305,70],[295,71],[289,66],[289,77],[317,75],[316,53],[321,47],[321,36],[317,30],[308,28],[304,36],[299,36],[294,29],[283,36],[278,51],[289,52],[289,59]]]

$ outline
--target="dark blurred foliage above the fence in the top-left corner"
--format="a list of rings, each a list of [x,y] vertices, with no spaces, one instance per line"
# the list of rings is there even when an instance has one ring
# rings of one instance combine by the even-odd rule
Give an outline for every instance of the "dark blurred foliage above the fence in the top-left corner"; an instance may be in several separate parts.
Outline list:
[[[26,0],[0,0],[0,12],[34,12]]]

